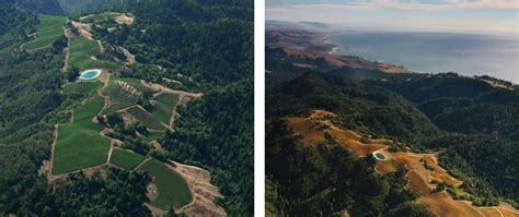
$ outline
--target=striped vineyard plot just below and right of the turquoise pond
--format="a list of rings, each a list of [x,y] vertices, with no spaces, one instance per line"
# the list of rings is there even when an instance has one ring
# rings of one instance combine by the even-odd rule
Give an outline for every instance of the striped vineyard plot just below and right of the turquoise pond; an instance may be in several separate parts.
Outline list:
[[[136,105],[139,96],[132,94],[132,87],[124,87],[120,81],[111,80],[108,86],[103,89],[103,94],[109,97],[111,106],[106,112],[114,112],[119,109]],[[129,84],[128,84],[129,85]]]

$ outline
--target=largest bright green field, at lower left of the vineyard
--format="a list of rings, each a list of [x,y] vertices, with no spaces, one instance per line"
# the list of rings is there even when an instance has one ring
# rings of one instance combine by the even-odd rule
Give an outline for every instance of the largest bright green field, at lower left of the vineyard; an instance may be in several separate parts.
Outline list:
[[[92,118],[103,108],[104,100],[95,97],[74,110],[74,122],[58,125],[54,150],[53,173],[80,170],[106,161],[109,140],[102,137],[101,126]]]

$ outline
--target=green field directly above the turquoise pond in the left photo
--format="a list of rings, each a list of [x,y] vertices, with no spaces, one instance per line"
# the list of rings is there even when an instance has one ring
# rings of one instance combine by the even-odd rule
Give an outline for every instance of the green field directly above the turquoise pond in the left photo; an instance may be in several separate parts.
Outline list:
[[[89,40],[83,36],[74,36],[70,39],[69,65],[79,70],[86,69],[116,69],[119,65],[115,62],[92,60],[91,57],[100,52],[97,43]]]

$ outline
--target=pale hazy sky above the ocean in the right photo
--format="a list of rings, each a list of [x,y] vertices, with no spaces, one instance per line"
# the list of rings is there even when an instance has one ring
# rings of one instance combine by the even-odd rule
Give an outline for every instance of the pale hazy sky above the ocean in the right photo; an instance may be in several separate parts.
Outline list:
[[[519,0],[266,0],[266,19],[347,27],[519,33]]]

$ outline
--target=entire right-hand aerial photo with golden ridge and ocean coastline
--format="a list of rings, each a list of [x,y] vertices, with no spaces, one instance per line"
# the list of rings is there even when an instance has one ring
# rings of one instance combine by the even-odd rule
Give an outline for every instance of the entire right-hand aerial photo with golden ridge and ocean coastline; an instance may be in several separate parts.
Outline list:
[[[267,0],[267,216],[519,216],[519,3]]]

